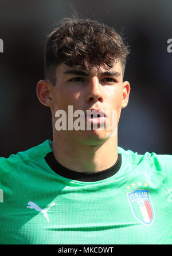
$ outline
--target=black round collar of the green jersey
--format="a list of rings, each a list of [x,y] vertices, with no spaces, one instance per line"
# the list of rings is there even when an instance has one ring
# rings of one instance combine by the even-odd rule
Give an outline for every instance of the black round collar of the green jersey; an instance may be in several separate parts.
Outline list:
[[[114,165],[112,165],[110,168],[99,171],[99,172],[76,172],[69,170],[68,168],[64,167],[58,161],[55,159],[53,152],[48,153],[45,156],[45,161],[49,165],[49,167],[56,172],[56,174],[72,179],[72,180],[80,180],[82,182],[96,182],[98,180],[103,180],[110,178],[112,175],[116,174],[116,172],[119,171],[120,166],[122,164],[122,156],[121,154],[118,154],[118,159]]]

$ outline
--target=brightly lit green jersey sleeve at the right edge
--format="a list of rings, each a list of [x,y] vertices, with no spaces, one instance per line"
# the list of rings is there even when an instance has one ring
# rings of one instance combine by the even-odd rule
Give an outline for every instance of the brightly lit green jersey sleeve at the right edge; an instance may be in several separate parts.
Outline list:
[[[172,190],[172,155],[157,155],[151,153],[150,160],[154,171],[163,175],[167,189]]]

